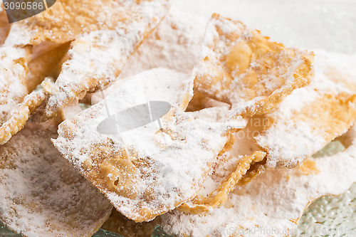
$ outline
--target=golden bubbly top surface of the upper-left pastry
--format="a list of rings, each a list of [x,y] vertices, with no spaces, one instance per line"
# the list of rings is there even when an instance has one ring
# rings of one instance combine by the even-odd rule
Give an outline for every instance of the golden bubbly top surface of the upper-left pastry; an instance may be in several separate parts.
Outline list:
[[[150,14],[147,6],[159,7],[159,1],[152,2],[154,3],[150,4],[148,0],[56,1],[56,4],[41,14],[13,23],[8,41],[16,46],[37,45],[43,41],[66,43],[84,33],[125,28],[128,24],[140,22],[142,17],[147,17],[145,14]],[[159,16],[152,20],[159,21]]]

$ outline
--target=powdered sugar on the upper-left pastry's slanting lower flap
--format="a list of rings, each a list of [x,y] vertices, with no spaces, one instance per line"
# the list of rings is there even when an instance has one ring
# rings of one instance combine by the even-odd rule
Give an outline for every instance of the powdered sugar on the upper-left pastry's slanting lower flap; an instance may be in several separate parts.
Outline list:
[[[130,4],[124,4],[115,11],[122,17],[125,11],[132,14],[130,21],[121,22],[117,19],[112,30],[98,29],[75,39],[73,48],[68,52],[69,60],[63,64],[56,80],[58,93],[48,99],[44,111],[46,117],[53,116],[57,108],[66,106],[79,93],[85,94],[88,90],[95,90],[116,80],[127,58],[168,11],[167,1],[163,0]]]

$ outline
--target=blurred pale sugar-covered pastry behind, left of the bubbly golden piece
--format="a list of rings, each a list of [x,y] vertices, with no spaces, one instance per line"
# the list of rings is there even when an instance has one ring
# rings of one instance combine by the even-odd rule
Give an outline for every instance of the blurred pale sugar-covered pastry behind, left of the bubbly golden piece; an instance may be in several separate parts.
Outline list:
[[[199,59],[207,20],[172,6],[155,31],[130,56],[120,78],[152,68],[190,73]]]

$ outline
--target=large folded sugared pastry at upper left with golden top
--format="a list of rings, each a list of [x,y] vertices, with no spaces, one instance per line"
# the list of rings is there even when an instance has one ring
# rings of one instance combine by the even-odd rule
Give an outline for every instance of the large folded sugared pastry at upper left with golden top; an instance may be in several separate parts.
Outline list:
[[[6,46],[21,48],[43,41],[73,41],[68,51],[69,58],[63,63],[52,90],[43,90],[46,96],[43,102],[36,104],[40,107],[34,119],[47,120],[71,100],[82,98],[99,85],[112,83],[127,57],[140,46],[167,11],[167,0],[63,0],[42,14],[14,23],[4,43]],[[23,103],[19,107],[26,105]],[[28,117],[28,111],[31,114],[33,109],[28,107],[18,113],[21,117]],[[16,126],[14,130],[6,130],[6,134],[0,133],[3,144],[26,122],[16,122],[18,117],[10,117],[9,120]]]

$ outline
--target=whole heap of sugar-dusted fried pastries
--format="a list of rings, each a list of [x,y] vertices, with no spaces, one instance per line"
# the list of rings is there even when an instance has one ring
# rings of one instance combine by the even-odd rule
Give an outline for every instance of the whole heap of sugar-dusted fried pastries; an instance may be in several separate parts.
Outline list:
[[[356,56],[166,0],[0,14],[0,220],[16,233],[288,236],[356,181]]]

